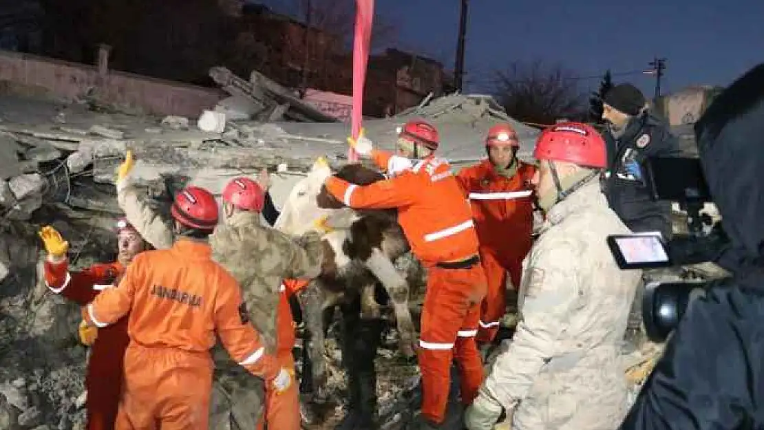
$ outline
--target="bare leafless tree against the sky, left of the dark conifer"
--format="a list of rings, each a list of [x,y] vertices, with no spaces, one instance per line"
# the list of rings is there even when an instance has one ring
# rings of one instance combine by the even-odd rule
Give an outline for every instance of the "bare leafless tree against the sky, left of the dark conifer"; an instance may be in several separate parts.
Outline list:
[[[559,118],[580,119],[586,112],[574,74],[560,65],[513,63],[494,72],[492,80],[497,101],[520,121],[554,124]]]

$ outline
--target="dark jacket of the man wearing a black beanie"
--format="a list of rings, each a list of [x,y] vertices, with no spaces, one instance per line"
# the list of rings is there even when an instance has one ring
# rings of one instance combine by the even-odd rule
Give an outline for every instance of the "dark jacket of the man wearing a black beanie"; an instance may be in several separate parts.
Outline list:
[[[607,142],[607,170],[604,192],[610,208],[632,231],[661,231],[671,237],[671,203],[653,202],[643,178],[634,176],[626,167],[639,163],[642,175],[647,157],[672,157],[680,153],[678,140],[658,118],[643,112],[626,124],[616,138],[604,133]]]

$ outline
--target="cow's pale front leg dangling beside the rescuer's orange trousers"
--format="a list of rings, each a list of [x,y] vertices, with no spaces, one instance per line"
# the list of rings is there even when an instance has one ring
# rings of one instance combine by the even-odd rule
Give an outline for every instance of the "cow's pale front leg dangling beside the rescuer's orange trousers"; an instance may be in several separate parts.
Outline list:
[[[393,312],[398,323],[400,342],[398,347],[406,357],[413,357],[416,343],[416,331],[409,310],[409,283],[393,266],[393,262],[377,247],[371,249],[371,256],[364,261],[377,280],[382,283],[390,301],[393,303]],[[372,295],[373,295],[372,289]],[[374,297],[372,296],[372,299]]]

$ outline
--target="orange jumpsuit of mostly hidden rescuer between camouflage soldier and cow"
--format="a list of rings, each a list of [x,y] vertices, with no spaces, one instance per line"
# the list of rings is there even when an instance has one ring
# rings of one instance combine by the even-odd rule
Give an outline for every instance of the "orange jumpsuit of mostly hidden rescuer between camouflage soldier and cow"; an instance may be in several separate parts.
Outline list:
[[[289,298],[300,289],[305,288],[308,281],[305,280],[284,280],[279,288],[279,310],[276,317],[277,338],[276,338],[276,359],[279,366],[284,369],[294,369],[294,357],[292,348],[294,348],[295,324],[292,315],[292,308],[289,304]],[[277,428],[278,430],[299,430],[299,386],[293,383],[281,393],[274,393],[274,390],[265,390],[265,421],[268,428]],[[263,428],[263,422],[257,426],[258,430]]]

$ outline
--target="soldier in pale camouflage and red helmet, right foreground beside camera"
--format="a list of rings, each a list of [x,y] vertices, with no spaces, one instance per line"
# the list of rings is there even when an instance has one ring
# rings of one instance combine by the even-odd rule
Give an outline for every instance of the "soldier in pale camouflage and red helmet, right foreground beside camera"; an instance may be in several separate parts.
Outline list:
[[[619,270],[606,238],[630,231],[600,190],[594,128],[558,124],[534,155],[545,225],[523,262],[520,322],[465,422],[490,430],[505,410],[513,430],[611,430],[626,413],[618,357],[641,271]]]

